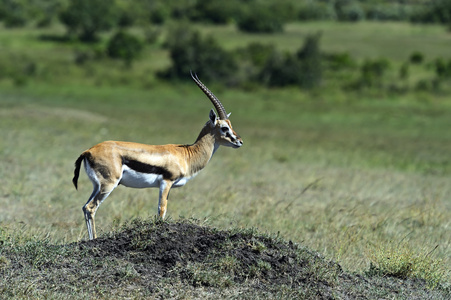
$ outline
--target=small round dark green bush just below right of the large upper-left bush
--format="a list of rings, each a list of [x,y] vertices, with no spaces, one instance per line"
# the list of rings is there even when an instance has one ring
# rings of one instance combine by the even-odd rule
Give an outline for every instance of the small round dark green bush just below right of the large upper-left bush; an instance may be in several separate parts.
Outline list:
[[[130,33],[119,31],[111,37],[107,46],[107,54],[111,58],[122,59],[127,66],[139,56],[143,42]]]

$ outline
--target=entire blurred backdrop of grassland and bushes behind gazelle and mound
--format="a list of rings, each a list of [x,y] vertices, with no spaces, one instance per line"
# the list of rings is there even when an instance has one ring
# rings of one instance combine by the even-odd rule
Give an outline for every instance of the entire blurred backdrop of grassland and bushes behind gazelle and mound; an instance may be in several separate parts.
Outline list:
[[[192,70],[244,146],[174,190],[172,218],[279,232],[353,271],[405,250],[449,279],[450,30],[445,0],[3,0],[0,228],[85,239],[75,159],[194,142],[211,105]],[[119,187],[98,231],[157,199]]]

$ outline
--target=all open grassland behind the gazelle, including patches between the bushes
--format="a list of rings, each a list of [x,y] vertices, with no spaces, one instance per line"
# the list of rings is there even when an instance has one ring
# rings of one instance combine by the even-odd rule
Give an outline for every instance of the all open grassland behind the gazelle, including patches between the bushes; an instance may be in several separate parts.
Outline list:
[[[276,37],[237,34],[231,27],[204,30],[231,48],[267,39],[293,50],[303,32],[322,30],[325,49],[346,49],[358,58],[402,61],[410,52],[404,56],[388,42],[400,38],[405,49],[427,57],[449,52],[449,34],[439,27],[358,26],[353,31],[349,24],[297,24]],[[8,49],[3,60],[49,61],[38,66],[46,82],[39,76],[19,86],[6,77],[0,81],[0,224],[2,230],[70,243],[87,236],[81,207],[91,183],[82,174],[77,192],[71,182],[83,150],[104,140],[192,143],[211,105],[192,83],[145,77],[167,63],[161,49],[148,49],[151,59],[130,75],[148,80],[145,89],[114,84],[128,76],[115,63],[92,69],[96,78],[114,79],[101,84],[90,81],[85,67],[68,64],[73,51],[67,45],[40,41],[41,33],[0,31],[1,50]],[[451,280],[449,96],[361,97],[295,88],[244,92],[215,83],[211,89],[232,112],[244,146],[220,149],[206,170],[171,192],[173,219],[279,232],[357,272],[370,263],[382,265],[387,257],[427,261],[436,268],[421,272]],[[98,211],[98,231],[154,215],[157,199],[157,190],[117,188]]]

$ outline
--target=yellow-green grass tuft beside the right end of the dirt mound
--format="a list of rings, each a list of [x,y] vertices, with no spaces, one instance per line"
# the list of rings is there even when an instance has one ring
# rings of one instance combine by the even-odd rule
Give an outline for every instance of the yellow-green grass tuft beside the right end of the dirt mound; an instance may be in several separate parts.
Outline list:
[[[391,276],[401,279],[420,278],[430,288],[443,283],[445,269],[440,259],[431,257],[432,252],[418,253],[406,245],[389,245],[374,250],[370,255],[370,276]]]

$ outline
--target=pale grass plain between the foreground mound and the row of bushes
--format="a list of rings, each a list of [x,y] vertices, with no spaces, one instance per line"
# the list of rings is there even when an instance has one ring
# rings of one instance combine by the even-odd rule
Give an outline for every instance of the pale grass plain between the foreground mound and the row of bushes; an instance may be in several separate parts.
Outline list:
[[[81,206],[91,183],[82,174],[79,191],[73,188],[75,158],[107,139],[192,142],[208,107],[202,109],[207,104],[198,100],[195,89],[180,89],[189,91],[186,101],[195,104],[176,112],[163,107],[168,101],[176,103],[181,90],[154,90],[151,102],[144,102],[139,93],[123,100],[120,90],[104,90],[102,97],[89,90],[35,97],[28,94],[35,92],[31,87],[4,93],[2,98],[9,101],[0,121],[3,226],[22,223],[30,233],[59,243],[85,239]],[[367,102],[375,106],[373,115],[397,112],[404,120],[403,125],[378,126],[366,122],[360,103],[328,110],[324,104],[299,99],[301,114],[283,104],[271,112],[254,106],[250,113],[246,106],[261,101],[260,95],[234,95],[226,93],[221,99],[234,112],[232,122],[245,146],[220,149],[198,177],[173,190],[170,216],[207,218],[221,228],[255,226],[280,232],[353,271],[369,268],[374,249],[397,243],[418,255],[431,252],[429,257],[449,270],[450,171],[448,152],[441,152],[450,145],[449,127],[441,127],[449,122],[445,104],[419,106],[413,113],[406,111],[411,118],[404,119],[401,103],[384,107]],[[92,99],[100,99],[99,104]],[[240,111],[243,99],[248,102]],[[431,113],[439,107],[442,114]],[[274,119],[265,124],[262,115]],[[416,119],[422,120],[421,126],[415,125]],[[422,147],[417,136],[430,148]],[[436,167],[435,160],[442,164]],[[106,232],[127,220],[152,216],[157,199],[154,189],[117,188],[99,209],[98,229]],[[443,278],[449,276],[444,272]]]

